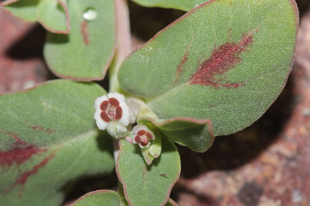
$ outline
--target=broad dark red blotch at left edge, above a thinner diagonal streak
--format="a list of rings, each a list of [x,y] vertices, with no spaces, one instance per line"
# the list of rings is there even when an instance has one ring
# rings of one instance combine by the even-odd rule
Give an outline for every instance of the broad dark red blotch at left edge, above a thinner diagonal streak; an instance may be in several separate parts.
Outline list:
[[[15,162],[17,166],[27,161],[33,155],[47,151],[46,148],[38,148],[35,145],[31,145],[17,137],[16,134],[7,132],[15,142],[11,145],[11,149],[6,151],[0,150],[0,166],[11,167]]]

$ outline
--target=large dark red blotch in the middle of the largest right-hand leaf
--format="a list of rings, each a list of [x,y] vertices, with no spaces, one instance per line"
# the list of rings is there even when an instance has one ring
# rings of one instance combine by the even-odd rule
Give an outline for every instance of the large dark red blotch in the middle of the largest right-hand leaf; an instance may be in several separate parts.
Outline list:
[[[237,88],[244,83],[222,83],[222,79],[216,79],[217,75],[223,75],[228,70],[235,67],[237,63],[242,62],[242,59],[238,57],[239,54],[245,52],[248,46],[253,43],[253,32],[243,34],[241,41],[226,42],[220,45],[218,48],[214,48],[211,56],[203,61],[197,68],[195,74],[190,79],[190,84],[200,84],[204,86],[224,86],[227,88]]]

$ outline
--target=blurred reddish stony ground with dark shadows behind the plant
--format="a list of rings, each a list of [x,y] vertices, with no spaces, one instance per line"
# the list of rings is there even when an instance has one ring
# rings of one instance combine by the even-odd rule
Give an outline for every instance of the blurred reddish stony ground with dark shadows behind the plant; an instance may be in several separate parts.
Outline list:
[[[310,205],[310,2],[296,2],[299,40],[286,87],[258,121],[216,137],[207,152],[178,146],[182,170],[170,197],[179,206]],[[131,1],[129,9],[133,49],[185,14]],[[0,8],[0,93],[57,78],[43,59],[45,35],[39,24],[14,19]],[[98,82],[106,90],[107,79]],[[117,176],[82,177],[67,186],[75,189],[64,204],[90,191],[116,190]]]

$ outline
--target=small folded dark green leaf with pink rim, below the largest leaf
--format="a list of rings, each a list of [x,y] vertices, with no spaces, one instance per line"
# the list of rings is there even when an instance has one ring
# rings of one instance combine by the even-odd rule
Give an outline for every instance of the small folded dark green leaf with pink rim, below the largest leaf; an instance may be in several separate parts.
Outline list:
[[[160,120],[151,117],[140,117],[137,122],[139,124],[153,124],[170,140],[188,146],[196,152],[205,152],[214,141],[212,124],[208,119],[197,120],[174,117],[168,120]]]

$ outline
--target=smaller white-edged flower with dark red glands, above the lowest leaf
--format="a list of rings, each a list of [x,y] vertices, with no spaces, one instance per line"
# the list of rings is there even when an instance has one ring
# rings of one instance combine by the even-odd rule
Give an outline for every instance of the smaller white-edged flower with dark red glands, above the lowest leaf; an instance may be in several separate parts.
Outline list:
[[[154,133],[144,124],[136,125],[132,132],[134,137],[132,143],[139,144],[141,148],[148,148],[150,146],[150,140],[155,140]]]

